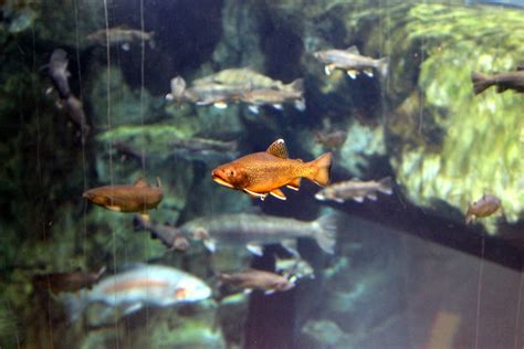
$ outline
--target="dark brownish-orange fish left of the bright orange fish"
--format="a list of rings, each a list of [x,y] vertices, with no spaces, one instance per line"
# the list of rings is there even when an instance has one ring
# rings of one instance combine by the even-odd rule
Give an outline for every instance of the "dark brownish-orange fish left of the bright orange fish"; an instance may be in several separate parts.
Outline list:
[[[164,193],[160,188],[151,187],[143,178],[138,178],[132,186],[105,186],[90,189],[82,195],[92,203],[117,212],[140,212],[147,214],[161,201]]]

